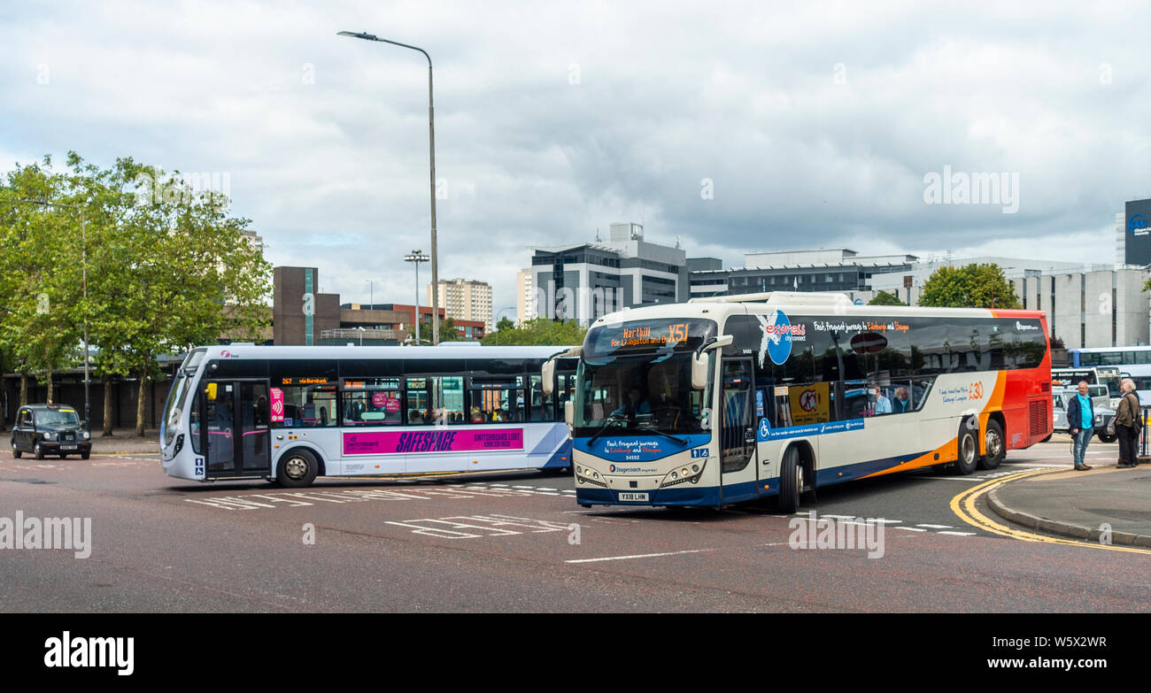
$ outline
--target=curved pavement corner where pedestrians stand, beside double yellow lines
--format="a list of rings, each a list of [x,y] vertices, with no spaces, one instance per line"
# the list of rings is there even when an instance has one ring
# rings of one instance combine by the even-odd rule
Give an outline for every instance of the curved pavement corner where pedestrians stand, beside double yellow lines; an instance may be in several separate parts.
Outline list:
[[[988,494],[988,505],[1039,532],[1090,541],[1110,532],[1111,543],[1151,548],[1151,457],[1141,457],[1135,469],[1118,469],[1118,459],[1100,462],[1076,472],[1068,459],[1066,471],[1009,480]]]

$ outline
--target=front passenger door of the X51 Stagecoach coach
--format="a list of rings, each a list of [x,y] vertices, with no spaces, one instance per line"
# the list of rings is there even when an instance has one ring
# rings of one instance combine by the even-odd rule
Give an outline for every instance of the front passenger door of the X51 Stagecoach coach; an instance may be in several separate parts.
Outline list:
[[[755,464],[755,376],[750,358],[725,358],[719,393],[721,503],[757,496]]]

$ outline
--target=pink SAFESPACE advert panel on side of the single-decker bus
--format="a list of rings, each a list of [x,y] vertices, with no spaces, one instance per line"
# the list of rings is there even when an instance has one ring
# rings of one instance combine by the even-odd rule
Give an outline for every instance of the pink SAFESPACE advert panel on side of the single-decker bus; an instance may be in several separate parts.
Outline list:
[[[344,455],[523,450],[523,428],[373,431],[344,433]]]

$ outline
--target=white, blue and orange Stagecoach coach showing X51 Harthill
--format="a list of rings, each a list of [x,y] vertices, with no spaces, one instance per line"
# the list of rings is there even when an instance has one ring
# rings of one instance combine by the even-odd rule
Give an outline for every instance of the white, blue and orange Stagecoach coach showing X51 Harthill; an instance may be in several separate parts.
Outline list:
[[[1044,313],[693,299],[596,320],[573,428],[582,505],[707,505],[920,467],[969,474],[1051,434]],[[544,382],[552,363],[544,366]]]

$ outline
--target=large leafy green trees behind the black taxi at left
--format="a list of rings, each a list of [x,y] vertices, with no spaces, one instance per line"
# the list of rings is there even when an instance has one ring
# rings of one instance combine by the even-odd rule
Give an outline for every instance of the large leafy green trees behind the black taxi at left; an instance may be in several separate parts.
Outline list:
[[[259,338],[272,267],[227,197],[130,158],[104,169],[69,152],[67,163],[17,165],[0,188],[0,351],[17,370],[76,365],[86,327],[97,373],[135,374],[143,393],[158,356]],[[143,413],[142,399],[140,434]]]

